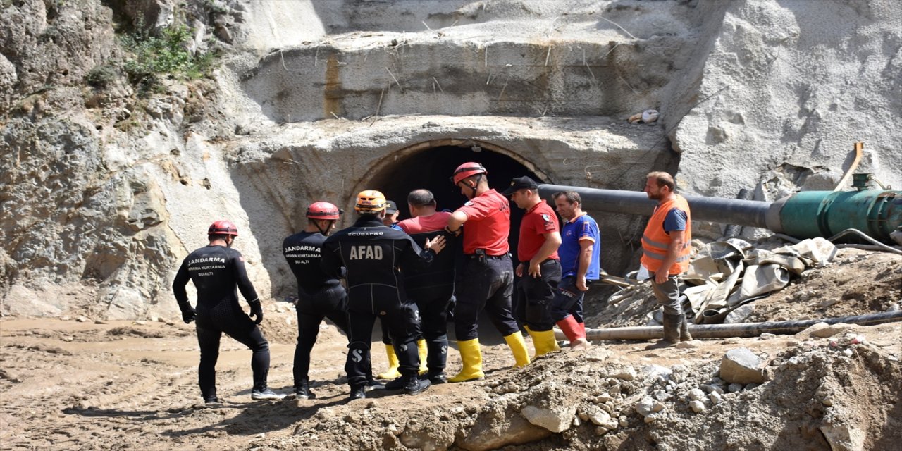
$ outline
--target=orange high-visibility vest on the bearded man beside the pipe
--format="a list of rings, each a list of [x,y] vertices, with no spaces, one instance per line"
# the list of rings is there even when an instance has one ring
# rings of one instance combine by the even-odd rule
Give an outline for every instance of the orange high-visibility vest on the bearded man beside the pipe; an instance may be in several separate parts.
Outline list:
[[[658,272],[661,263],[664,262],[664,257],[667,255],[670,235],[667,235],[667,232],[664,231],[664,218],[667,216],[667,212],[674,208],[679,208],[686,212],[686,232],[684,235],[686,240],[683,249],[676,256],[676,262],[670,266],[667,273],[679,274],[689,268],[689,253],[692,251],[692,246],[689,245],[689,242],[692,241],[692,216],[689,214],[689,203],[686,202],[686,198],[676,195],[673,200],[668,200],[655,207],[655,212],[651,215],[648,226],[645,226],[645,232],[642,233],[642,258],[640,262],[642,262],[642,266],[649,269],[649,272]]]

